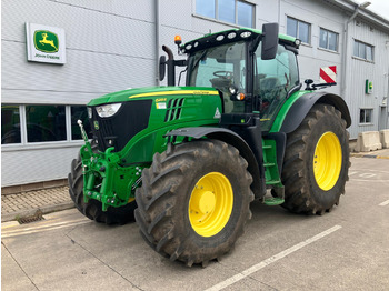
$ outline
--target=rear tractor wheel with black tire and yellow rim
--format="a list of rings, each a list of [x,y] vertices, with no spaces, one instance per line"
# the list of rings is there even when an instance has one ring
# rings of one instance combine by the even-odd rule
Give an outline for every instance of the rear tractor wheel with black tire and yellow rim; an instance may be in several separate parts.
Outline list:
[[[315,104],[300,127],[288,134],[282,207],[308,214],[330,211],[345,194],[349,155],[349,136],[340,111]]]

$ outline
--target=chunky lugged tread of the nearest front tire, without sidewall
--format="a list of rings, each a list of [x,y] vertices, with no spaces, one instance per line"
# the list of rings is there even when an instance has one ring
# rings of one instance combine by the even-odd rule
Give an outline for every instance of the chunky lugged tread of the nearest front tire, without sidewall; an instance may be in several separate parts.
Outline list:
[[[136,200],[138,209],[136,210],[136,220],[140,232],[148,244],[161,255],[171,261],[182,261],[188,267],[193,263],[206,265],[210,260],[220,258],[230,251],[236,240],[243,233],[243,227],[251,218],[249,202],[245,209],[242,227],[231,238],[231,242],[225,243],[222,248],[216,248],[212,254],[194,253],[190,250],[190,243],[184,235],[176,233],[178,225],[172,219],[177,214],[177,198],[183,195],[180,193],[179,185],[182,182],[190,181],[191,167],[198,158],[211,159],[212,154],[228,154],[230,159],[236,159],[238,169],[245,170],[247,180],[247,191],[249,202],[253,200],[250,190],[252,182],[251,175],[247,171],[247,161],[239,155],[239,151],[225,142],[217,140],[192,141],[169,146],[163,153],[153,155],[152,165],[142,172],[142,187],[137,189]]]

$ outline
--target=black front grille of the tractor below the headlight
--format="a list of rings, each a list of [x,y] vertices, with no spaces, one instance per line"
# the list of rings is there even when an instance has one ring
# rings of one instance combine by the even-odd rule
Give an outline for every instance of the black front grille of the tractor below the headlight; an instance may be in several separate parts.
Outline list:
[[[133,136],[149,126],[151,103],[152,100],[123,102],[109,118],[100,118],[93,108],[90,122],[99,150],[114,147],[116,152],[121,151]]]

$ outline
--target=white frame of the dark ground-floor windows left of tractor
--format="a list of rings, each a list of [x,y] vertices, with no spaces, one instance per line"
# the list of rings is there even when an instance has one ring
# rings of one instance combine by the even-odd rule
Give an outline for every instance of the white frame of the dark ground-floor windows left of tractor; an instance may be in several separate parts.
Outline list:
[[[4,102],[1,106],[16,106],[19,107],[19,116],[20,116],[20,141],[18,143],[3,143],[1,144],[1,151],[12,151],[12,150],[30,150],[30,149],[47,149],[47,148],[63,148],[63,147],[73,147],[78,144],[83,144],[82,139],[72,139],[71,131],[71,108],[72,107],[86,107],[86,104],[38,104],[38,103],[10,103]],[[27,132],[27,111],[26,107],[28,106],[63,106],[64,107],[64,127],[66,127],[66,139],[60,141],[38,141],[38,142],[29,142],[28,141],[28,132]]]

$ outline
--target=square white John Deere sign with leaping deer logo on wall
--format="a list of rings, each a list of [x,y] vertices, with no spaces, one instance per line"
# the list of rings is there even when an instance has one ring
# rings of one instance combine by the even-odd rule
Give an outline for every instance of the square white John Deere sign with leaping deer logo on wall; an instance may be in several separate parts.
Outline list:
[[[63,29],[26,23],[26,34],[29,61],[66,63]]]

